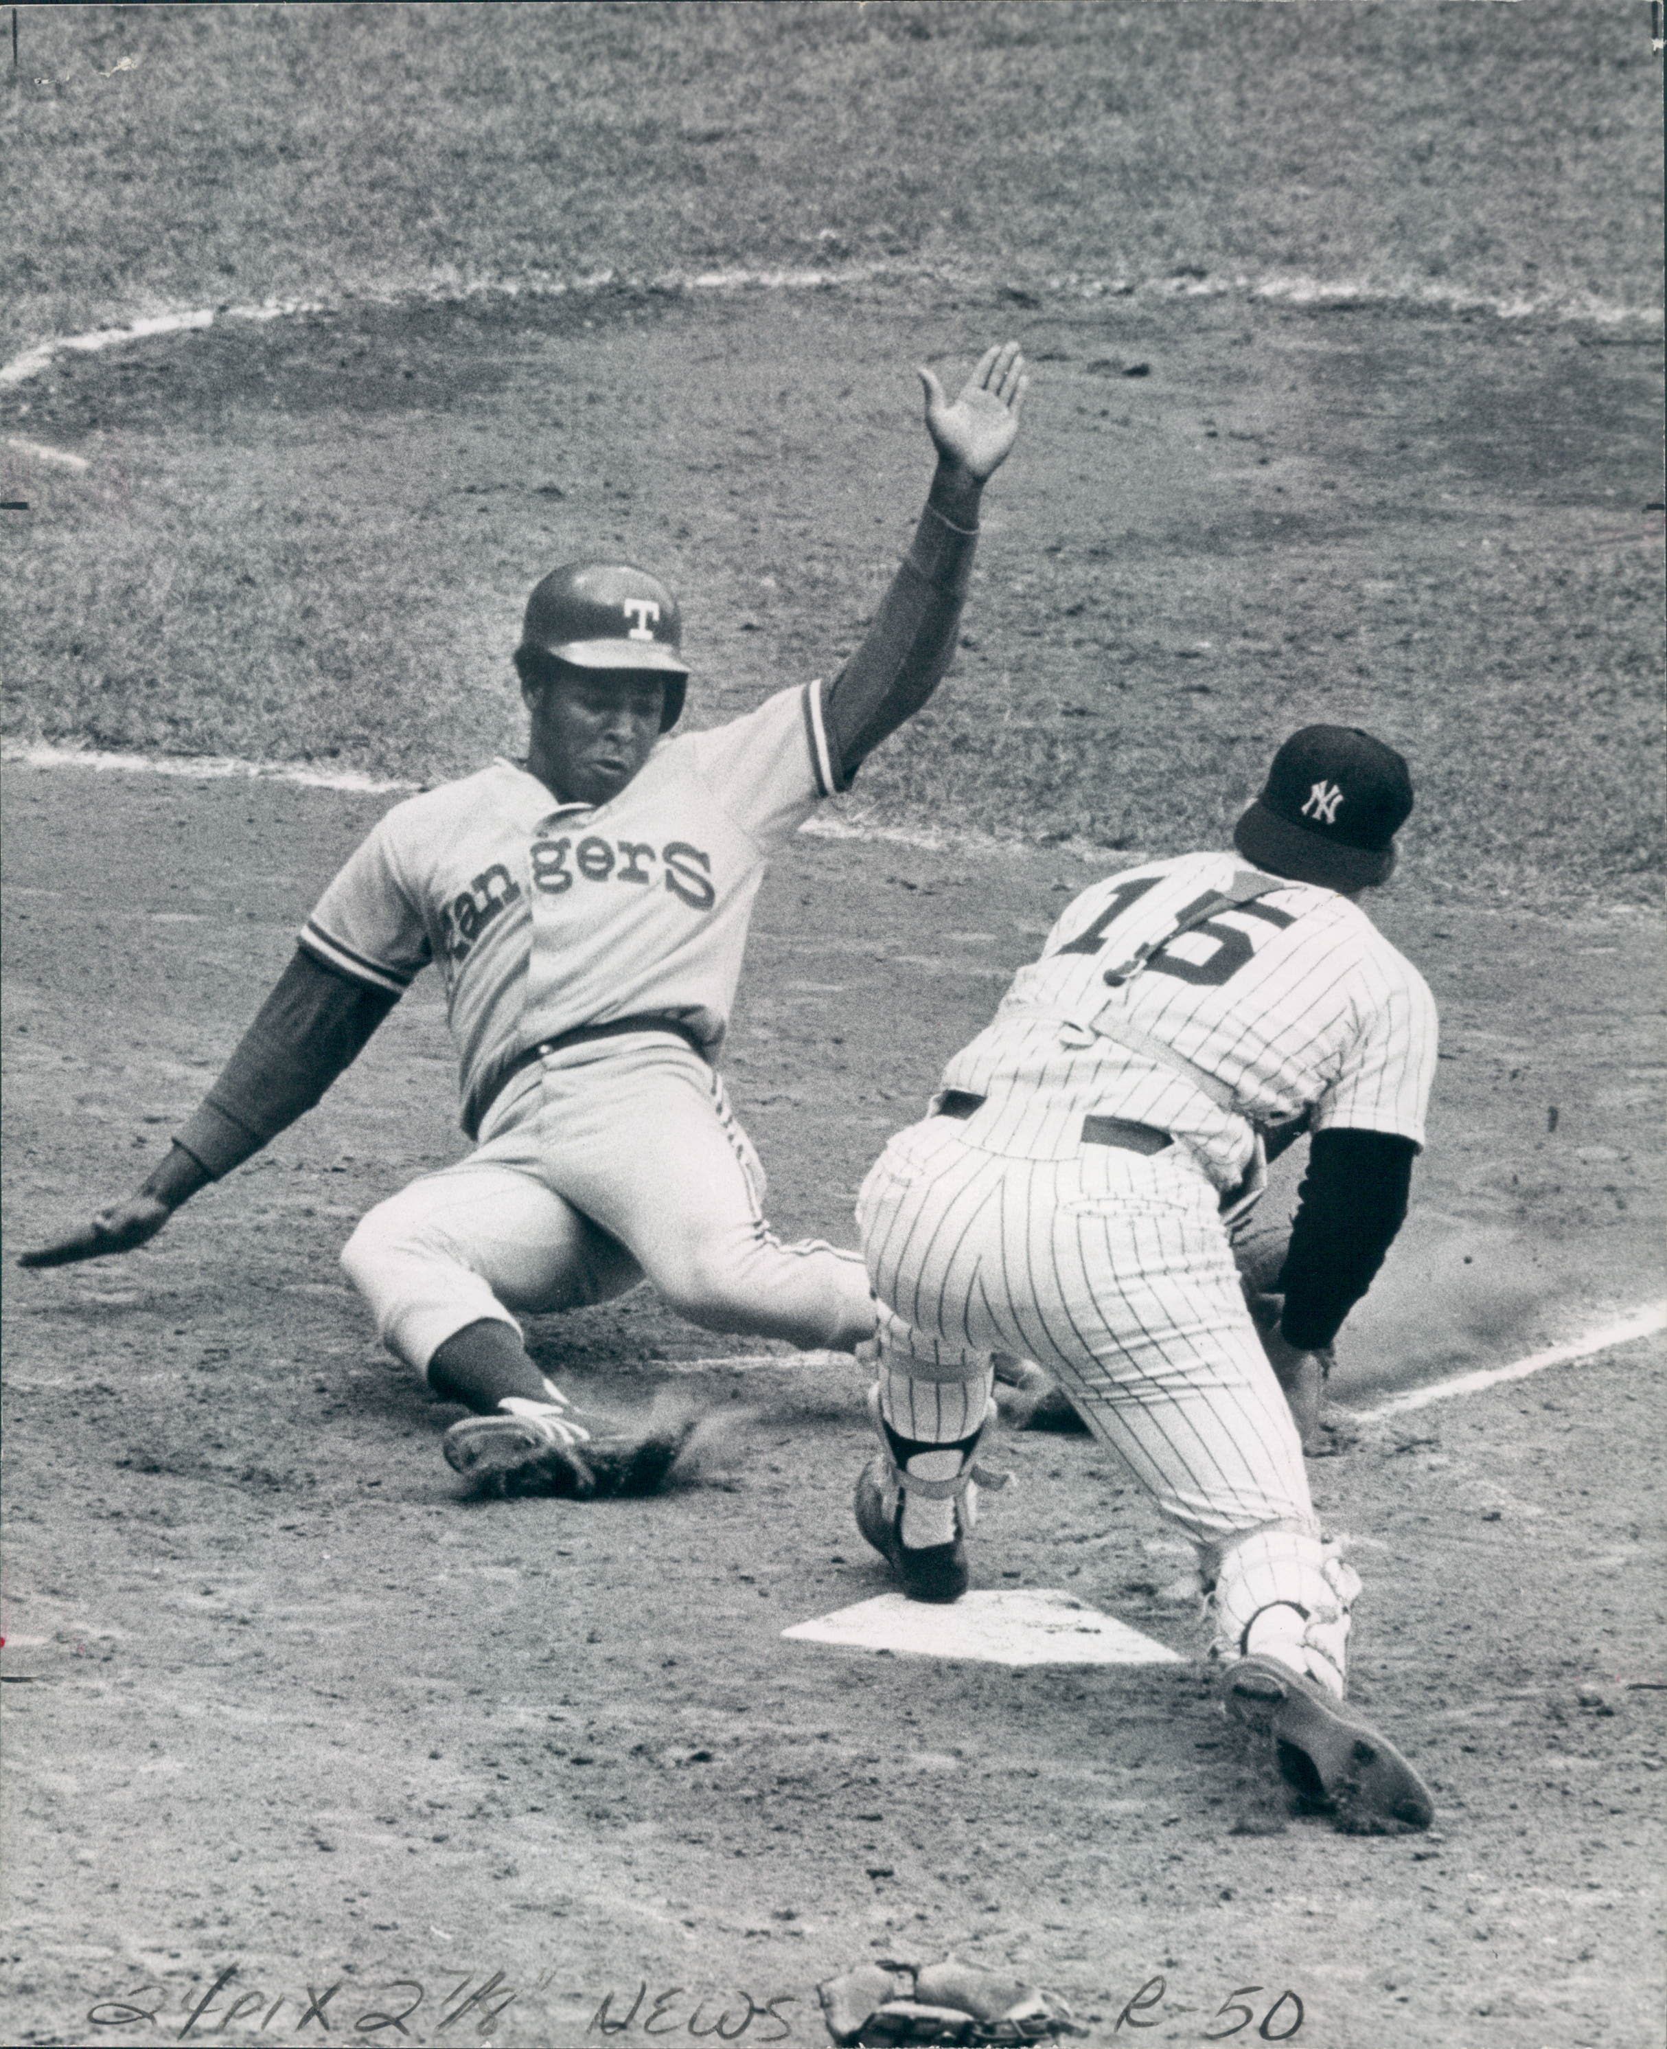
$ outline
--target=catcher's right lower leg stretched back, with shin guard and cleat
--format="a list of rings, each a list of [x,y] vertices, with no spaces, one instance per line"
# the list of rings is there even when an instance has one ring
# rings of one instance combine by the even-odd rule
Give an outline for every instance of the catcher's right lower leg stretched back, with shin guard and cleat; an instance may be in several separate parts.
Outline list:
[[[1227,1666],[1225,1711],[1272,1744],[1284,1783],[1339,1828],[1429,1828],[1429,1789],[1360,1713],[1343,1705],[1350,1611],[1360,1580],[1305,1529],[1259,1529],[1204,1555],[1210,1656]]]

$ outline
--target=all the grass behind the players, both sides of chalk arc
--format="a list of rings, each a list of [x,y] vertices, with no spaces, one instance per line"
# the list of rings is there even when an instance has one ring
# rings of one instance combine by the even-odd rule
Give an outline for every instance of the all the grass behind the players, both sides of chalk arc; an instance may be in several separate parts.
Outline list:
[[[10,342],[358,303],[63,357],[6,398],[90,465],[0,447],[31,506],[4,514],[6,729],[453,772],[516,744],[526,586],[594,551],[682,588],[719,717],[850,650],[924,477],[907,363],[1014,324],[1034,424],[969,641],[858,809],[1176,848],[1290,723],[1350,717],[1415,758],[1434,885],[1634,893],[1659,719],[1638,328],[1081,287],[1649,309],[1647,25],[1561,0],[23,8]],[[723,264],[907,281],[362,303]]]

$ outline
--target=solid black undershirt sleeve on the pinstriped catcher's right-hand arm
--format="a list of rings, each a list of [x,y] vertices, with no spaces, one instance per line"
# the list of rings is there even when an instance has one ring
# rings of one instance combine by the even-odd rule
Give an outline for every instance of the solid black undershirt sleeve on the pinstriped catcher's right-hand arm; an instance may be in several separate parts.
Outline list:
[[[1407,1217],[1417,1145],[1391,1131],[1317,1131],[1280,1272],[1288,1344],[1317,1352],[1372,1285]]]

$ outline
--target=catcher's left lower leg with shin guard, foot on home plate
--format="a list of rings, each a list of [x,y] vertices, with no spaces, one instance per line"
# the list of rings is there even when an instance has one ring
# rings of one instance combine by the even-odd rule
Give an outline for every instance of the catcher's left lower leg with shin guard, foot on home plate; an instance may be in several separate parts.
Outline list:
[[[885,1305],[872,1352],[881,1377],[868,1406],[881,1455],[858,1475],[856,1527],[911,1600],[958,1600],[971,1582],[967,1531],[979,1486],[1006,1486],[975,1461],[995,1416],[989,1354],[940,1344]]]

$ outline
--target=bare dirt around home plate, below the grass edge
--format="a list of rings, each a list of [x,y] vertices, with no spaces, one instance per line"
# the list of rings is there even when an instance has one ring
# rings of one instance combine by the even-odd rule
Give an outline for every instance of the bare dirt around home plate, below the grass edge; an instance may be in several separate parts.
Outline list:
[[[10,1248],[156,1158],[377,809],[10,770]],[[883,1137],[1087,875],[1061,850],[795,844],[727,1070],[784,1231],[850,1238]],[[1427,914],[1411,889],[1380,918],[1450,1057],[1419,1215],[1348,1332],[1356,1399],[1649,1299],[1661,1221],[1655,924]],[[418,990],[154,1248],[6,1270],[12,2041],[180,2039],[213,1992],[193,2037],[307,2043],[328,2018],[446,2043],[498,2010],[496,2041],[567,2049],[604,2039],[612,1994],[627,2043],[747,2012],[735,2039],[815,2043],[817,1979],[950,1951],[1057,1985],[1092,2041],[1128,2035],[1137,1996],[1141,2039],[1221,2039],[1251,1985],[1239,2039],[1653,2039],[1667,1674],[1642,1346],[1372,1426],[1313,1469],[1368,1582],[1358,1695],[1442,1820],[1237,1834],[1262,1824],[1192,1666],[780,1641],[883,1588],[848,1518],[854,1369],[690,1379],[735,1346],[645,1293],[545,1324],[580,1391],[725,1404],[733,1475],[461,1504],[451,1412],[377,1356],[334,1262],[365,1207],[459,1147]],[[1190,1649],[1186,1559],[1122,1477],[1081,1440],[1003,1455],[1022,1488],[983,1524],[983,1584],[1057,1586]]]

